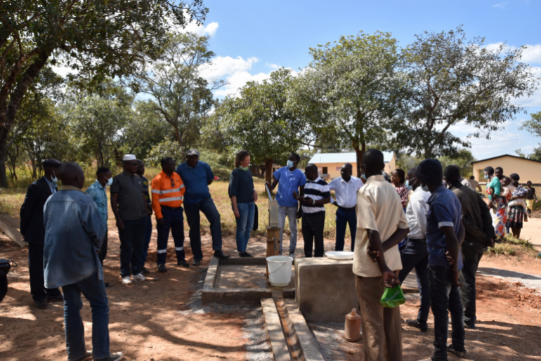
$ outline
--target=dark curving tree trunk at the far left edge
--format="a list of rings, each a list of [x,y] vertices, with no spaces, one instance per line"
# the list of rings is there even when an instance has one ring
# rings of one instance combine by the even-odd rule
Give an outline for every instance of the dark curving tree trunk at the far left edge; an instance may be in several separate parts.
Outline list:
[[[13,93],[9,96],[6,93],[5,98],[0,100],[0,187],[8,186],[8,178],[6,177],[6,155],[8,150],[6,146],[8,144],[9,131],[15,122],[15,115],[17,115],[20,102],[24,98],[28,86],[32,84],[39,71],[47,63],[47,58],[47,52],[39,53],[34,63],[28,67],[25,74],[22,74]]]

